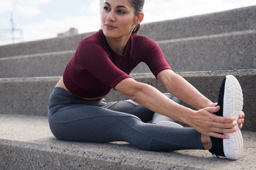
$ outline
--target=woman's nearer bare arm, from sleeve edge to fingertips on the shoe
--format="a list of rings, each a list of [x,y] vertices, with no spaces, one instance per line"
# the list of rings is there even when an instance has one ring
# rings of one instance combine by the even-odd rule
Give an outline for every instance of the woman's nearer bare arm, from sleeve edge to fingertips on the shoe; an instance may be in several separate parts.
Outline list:
[[[219,133],[235,132],[235,129],[233,129],[235,118],[224,118],[212,114],[217,112],[220,107],[209,107],[199,111],[193,111],[191,108],[186,108],[171,101],[171,99],[164,96],[164,94],[153,86],[137,82],[131,78],[119,82],[115,89],[133,101],[149,108],[151,111],[191,125],[191,127],[204,135],[225,138],[225,135]]]

